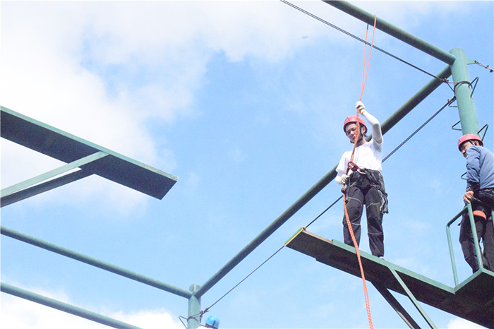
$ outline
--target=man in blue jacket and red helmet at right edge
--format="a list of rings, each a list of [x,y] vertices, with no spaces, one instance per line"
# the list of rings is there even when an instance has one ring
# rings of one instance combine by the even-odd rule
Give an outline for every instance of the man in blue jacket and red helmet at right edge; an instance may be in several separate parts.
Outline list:
[[[494,154],[483,147],[481,138],[466,134],[459,138],[458,149],[466,157],[465,203],[472,203],[478,242],[483,241],[482,264],[494,271],[494,228],[491,211],[494,209]],[[480,200],[483,204],[474,201]],[[460,224],[459,242],[463,256],[474,273],[478,270],[474,237],[468,214],[464,214]]]

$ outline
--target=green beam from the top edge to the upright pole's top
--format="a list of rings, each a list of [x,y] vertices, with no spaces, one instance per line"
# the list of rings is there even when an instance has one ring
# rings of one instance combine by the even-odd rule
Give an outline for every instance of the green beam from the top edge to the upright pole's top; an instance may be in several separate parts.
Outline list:
[[[323,0],[323,2],[339,9],[340,11],[344,11],[345,13],[348,13],[350,16],[354,16],[355,18],[358,18],[359,20],[362,20],[365,23],[374,25],[373,14],[368,13],[367,11],[363,11],[361,8],[354,6],[353,4],[350,4],[347,1]],[[387,23],[385,20],[382,20],[379,17],[376,20],[375,28],[381,30],[382,32],[387,33],[388,35],[391,35],[392,37],[396,37],[398,40],[406,42],[407,44],[410,44],[412,47],[415,47],[416,49],[419,49],[422,52],[425,52],[426,54],[429,54],[430,56],[439,59],[440,61],[444,61],[447,64],[452,64],[455,59],[453,54],[445,52],[444,50],[433,46],[433,44],[429,44],[428,42],[425,42],[419,39],[418,37],[411,35],[409,32],[406,32],[390,23]]]

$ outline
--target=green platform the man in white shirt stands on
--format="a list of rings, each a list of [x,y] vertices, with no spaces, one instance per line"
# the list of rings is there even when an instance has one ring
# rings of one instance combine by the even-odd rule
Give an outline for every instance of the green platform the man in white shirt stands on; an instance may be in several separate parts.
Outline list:
[[[302,228],[286,246],[316,261],[361,277],[355,248],[347,244],[325,239]],[[363,251],[360,253],[366,280],[372,282],[378,290],[384,287],[460,318],[494,328],[494,273],[478,271],[453,288]],[[415,328],[415,325],[411,325],[411,328]]]

